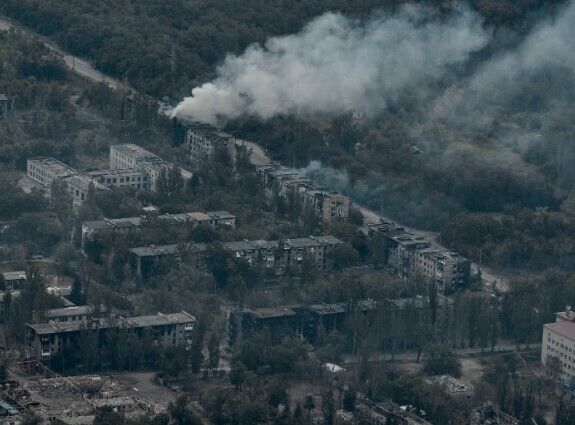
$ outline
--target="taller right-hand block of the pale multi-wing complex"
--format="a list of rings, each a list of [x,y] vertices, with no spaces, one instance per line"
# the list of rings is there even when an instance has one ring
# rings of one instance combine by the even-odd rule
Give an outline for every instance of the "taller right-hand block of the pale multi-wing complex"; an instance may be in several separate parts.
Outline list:
[[[161,172],[172,168],[171,162],[164,161],[158,155],[133,143],[110,146],[110,169],[139,169],[148,175],[149,190],[156,190],[156,183]],[[192,178],[192,173],[180,168],[184,180]]]

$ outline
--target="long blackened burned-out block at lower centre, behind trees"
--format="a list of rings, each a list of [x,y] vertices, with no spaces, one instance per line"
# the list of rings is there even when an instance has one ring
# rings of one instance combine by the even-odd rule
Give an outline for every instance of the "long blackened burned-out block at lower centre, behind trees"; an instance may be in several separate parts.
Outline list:
[[[377,307],[375,301],[362,300],[355,303],[288,305],[233,311],[228,322],[228,342],[233,345],[238,339],[267,330],[275,341],[297,336],[313,344],[319,326],[323,326],[326,332],[341,331],[351,316],[368,314]]]

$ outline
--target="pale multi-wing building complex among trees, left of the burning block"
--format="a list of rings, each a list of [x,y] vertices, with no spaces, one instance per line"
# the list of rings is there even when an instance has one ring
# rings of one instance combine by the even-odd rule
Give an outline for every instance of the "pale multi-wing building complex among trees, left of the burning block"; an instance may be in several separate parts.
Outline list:
[[[88,197],[90,187],[105,191],[111,187],[133,187],[157,190],[157,181],[163,172],[174,167],[171,162],[131,143],[110,147],[110,169],[80,173],[52,157],[36,157],[27,161],[27,175],[44,187],[51,188],[54,181],[64,181],[72,196],[73,205],[80,206]],[[192,174],[182,168],[184,180]]]

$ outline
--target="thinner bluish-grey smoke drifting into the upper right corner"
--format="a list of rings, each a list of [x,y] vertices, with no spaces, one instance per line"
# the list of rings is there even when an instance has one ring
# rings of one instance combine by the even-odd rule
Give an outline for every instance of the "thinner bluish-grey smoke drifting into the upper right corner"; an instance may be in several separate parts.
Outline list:
[[[513,103],[528,97],[532,79],[544,74],[550,90],[537,99],[536,106],[539,112],[548,112],[559,101],[573,102],[572,81],[559,72],[567,70],[572,74],[574,68],[575,1],[572,1],[555,20],[536,27],[517,48],[486,61],[470,78],[446,90],[430,108],[429,119],[487,129],[501,118],[502,109],[528,107]],[[556,84],[562,90],[555,91]]]

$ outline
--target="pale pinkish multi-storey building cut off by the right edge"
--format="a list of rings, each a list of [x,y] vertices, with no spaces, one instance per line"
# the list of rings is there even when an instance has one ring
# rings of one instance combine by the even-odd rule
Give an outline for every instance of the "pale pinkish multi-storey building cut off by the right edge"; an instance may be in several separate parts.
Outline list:
[[[561,365],[560,380],[575,382],[575,313],[570,306],[555,314],[555,323],[543,325],[541,363],[547,365],[551,357]]]

